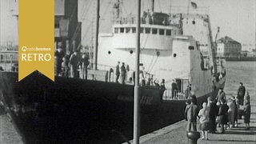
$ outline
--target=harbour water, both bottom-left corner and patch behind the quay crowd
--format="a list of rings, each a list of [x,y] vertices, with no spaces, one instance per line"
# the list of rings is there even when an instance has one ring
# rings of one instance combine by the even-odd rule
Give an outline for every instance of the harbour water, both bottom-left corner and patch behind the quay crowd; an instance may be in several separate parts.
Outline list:
[[[226,95],[235,96],[239,82],[243,82],[246,90],[250,93],[250,97],[256,97],[256,62],[225,62],[225,66],[226,86],[224,91]],[[251,103],[251,105],[255,105],[255,103]],[[22,144],[20,136],[5,114],[0,116],[0,143]]]

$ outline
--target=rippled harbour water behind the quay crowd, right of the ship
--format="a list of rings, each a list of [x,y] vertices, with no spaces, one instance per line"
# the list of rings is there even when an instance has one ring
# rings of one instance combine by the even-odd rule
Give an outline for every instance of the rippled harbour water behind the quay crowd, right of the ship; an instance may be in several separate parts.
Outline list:
[[[226,62],[226,85],[227,95],[236,95],[239,82],[246,86],[250,97],[256,95],[256,62]]]

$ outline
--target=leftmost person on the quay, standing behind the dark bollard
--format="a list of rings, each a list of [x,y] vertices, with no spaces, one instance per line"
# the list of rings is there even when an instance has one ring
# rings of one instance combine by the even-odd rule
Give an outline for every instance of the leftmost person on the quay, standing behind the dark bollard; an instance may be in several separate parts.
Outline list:
[[[191,126],[193,131],[197,131],[198,106],[196,103],[196,97],[191,97],[190,105],[186,106],[185,114],[188,121],[186,125],[186,131],[191,131]]]

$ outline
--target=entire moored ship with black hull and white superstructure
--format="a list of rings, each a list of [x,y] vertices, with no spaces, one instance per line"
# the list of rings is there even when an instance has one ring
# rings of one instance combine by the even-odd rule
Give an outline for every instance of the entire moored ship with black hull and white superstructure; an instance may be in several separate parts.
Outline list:
[[[114,6],[113,31],[99,34],[94,63],[98,69],[89,70],[87,80],[56,76],[52,82],[35,71],[18,82],[17,72],[0,72],[1,104],[25,143],[119,143],[131,139],[138,32],[142,37],[141,134],[182,120],[190,94],[196,95],[200,106],[224,87],[226,74],[218,74],[207,14],[157,13],[152,1],[152,9],[142,15],[141,29],[136,30],[133,17],[118,17],[118,6]],[[206,59],[189,26],[195,19],[206,25]],[[118,62],[130,67],[124,84],[120,79],[115,82]],[[157,83],[155,79],[164,79],[166,90],[152,85]]]

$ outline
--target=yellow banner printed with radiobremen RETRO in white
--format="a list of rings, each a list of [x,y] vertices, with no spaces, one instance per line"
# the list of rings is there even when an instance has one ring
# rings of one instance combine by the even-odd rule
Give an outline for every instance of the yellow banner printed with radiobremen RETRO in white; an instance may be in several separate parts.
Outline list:
[[[54,81],[54,0],[18,2],[18,81],[34,70]]]

